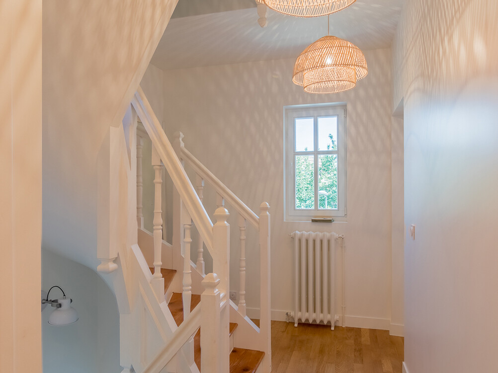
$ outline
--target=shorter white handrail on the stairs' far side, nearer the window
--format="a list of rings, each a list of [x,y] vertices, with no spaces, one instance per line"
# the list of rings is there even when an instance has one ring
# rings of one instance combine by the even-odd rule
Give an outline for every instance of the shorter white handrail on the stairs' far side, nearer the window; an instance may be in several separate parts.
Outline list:
[[[225,184],[223,184],[216,176],[209,171],[206,166],[204,166],[197,158],[195,158],[192,153],[190,153],[184,147],[182,149],[182,157],[187,161],[194,171],[202,177],[205,181],[211,184],[216,191],[221,194],[225,200],[235,207],[237,212],[239,212],[245,219],[249,221],[252,226],[256,229],[259,228],[259,217],[237,196],[232,190],[230,190]]]

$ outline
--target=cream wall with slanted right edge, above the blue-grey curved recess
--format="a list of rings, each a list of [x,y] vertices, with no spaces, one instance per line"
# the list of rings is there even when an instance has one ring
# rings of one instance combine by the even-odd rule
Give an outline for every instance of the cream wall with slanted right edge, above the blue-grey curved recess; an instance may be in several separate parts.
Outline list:
[[[97,166],[176,2],[43,1],[43,246],[90,268],[109,230]]]

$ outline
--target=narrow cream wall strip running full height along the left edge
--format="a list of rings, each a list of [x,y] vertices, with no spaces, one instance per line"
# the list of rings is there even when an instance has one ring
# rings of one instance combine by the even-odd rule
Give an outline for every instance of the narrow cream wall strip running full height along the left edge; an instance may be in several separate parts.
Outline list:
[[[0,4],[0,362],[41,372],[41,0]]]

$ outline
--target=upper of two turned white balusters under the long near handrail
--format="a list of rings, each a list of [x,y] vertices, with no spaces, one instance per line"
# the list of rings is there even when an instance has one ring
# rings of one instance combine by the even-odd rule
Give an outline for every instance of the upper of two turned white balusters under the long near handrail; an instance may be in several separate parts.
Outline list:
[[[152,146],[152,166],[154,167],[154,219],[152,220],[154,231],[154,275],[152,287],[154,288],[157,299],[164,301],[164,279],[161,274],[161,249],[162,249],[162,164],[159,155],[154,146]]]

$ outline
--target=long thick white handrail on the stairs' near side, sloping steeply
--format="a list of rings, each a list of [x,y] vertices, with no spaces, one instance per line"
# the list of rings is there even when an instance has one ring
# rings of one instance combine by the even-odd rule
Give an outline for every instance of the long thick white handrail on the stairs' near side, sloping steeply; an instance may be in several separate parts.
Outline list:
[[[166,167],[168,174],[173,181],[181,199],[185,203],[192,220],[195,223],[207,248],[214,253],[213,248],[213,223],[209,218],[204,206],[199,199],[190,179],[183,169],[179,159],[176,156],[168,137],[164,133],[159,120],[154,114],[147,97],[141,87],[138,87],[131,100],[138,117],[147,131],[157,154]]]

